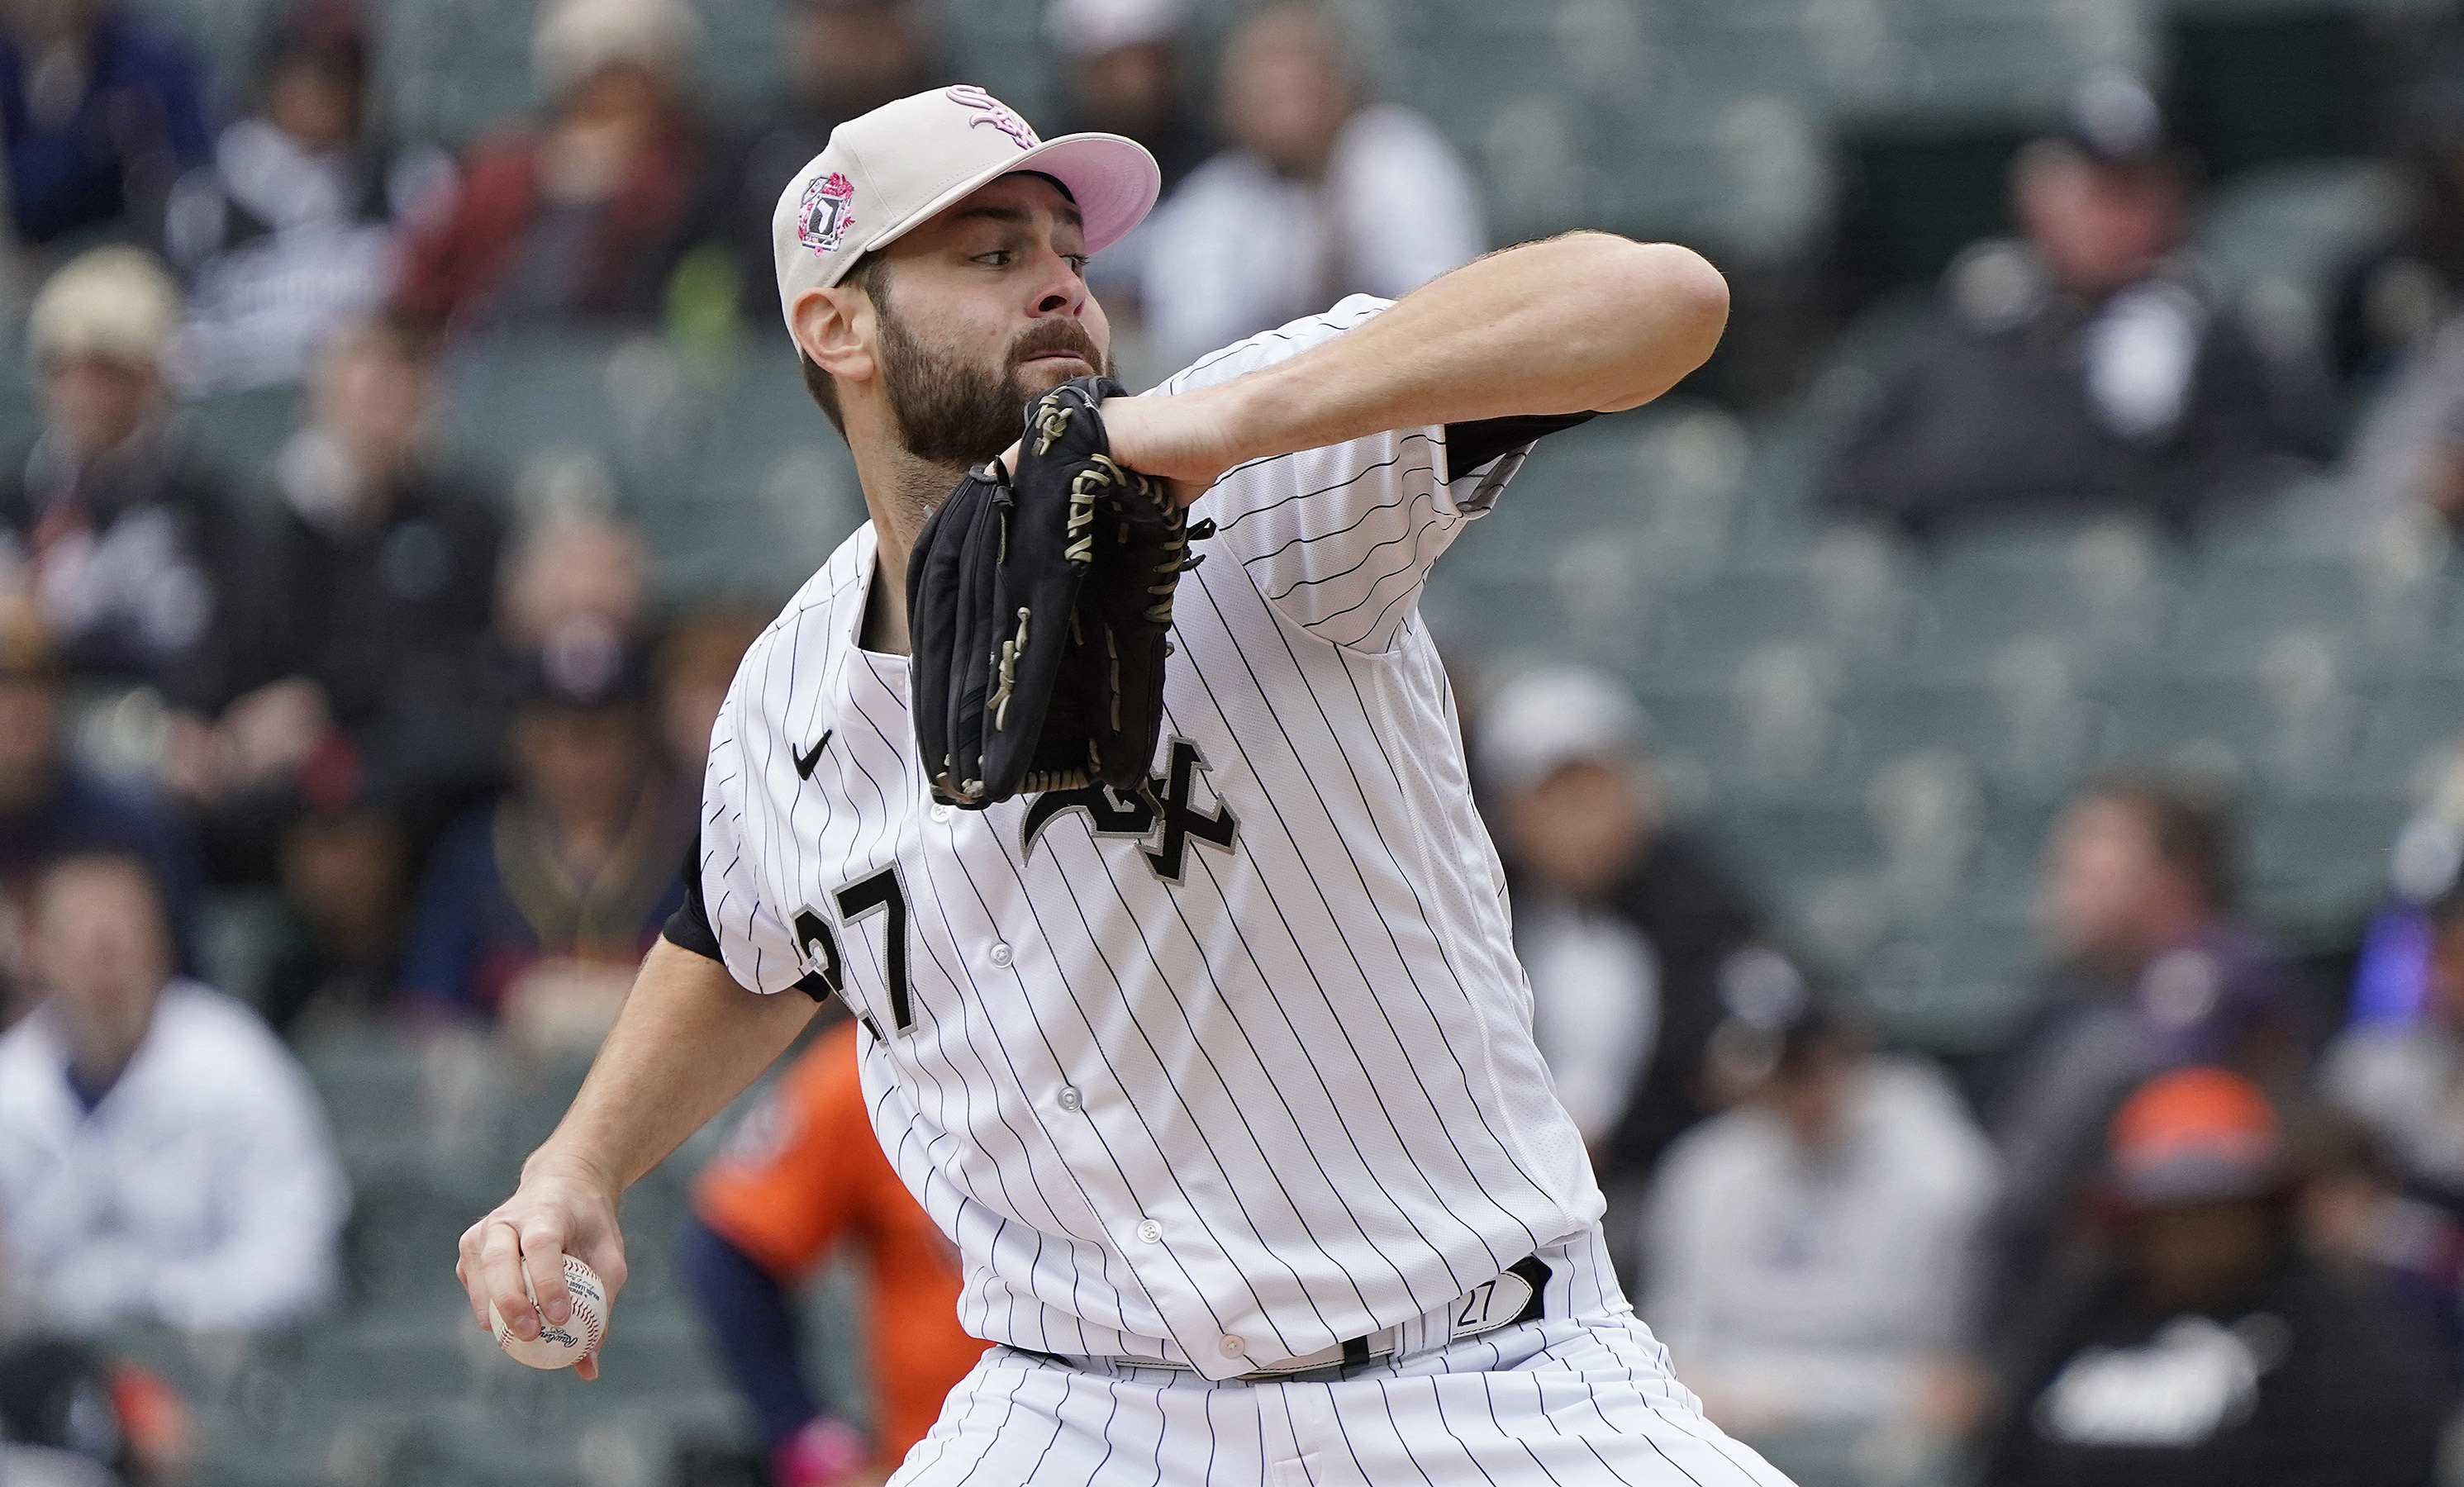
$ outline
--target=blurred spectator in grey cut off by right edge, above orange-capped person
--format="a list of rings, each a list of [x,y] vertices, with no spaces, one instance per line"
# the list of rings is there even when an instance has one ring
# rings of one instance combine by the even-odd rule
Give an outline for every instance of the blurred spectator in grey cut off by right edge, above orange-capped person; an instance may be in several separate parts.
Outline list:
[[[2420,1014],[2348,1029],[2328,1049],[2321,1088],[2388,1145],[2407,1187],[2464,1214],[2464,886],[2427,918]]]

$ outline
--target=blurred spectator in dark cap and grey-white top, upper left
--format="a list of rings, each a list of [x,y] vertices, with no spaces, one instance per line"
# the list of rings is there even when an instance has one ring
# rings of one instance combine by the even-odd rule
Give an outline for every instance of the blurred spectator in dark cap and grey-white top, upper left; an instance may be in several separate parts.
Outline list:
[[[187,391],[298,382],[335,325],[384,298],[394,222],[451,182],[444,150],[370,128],[367,52],[357,0],[296,0],[266,37],[254,113],[172,190]]]

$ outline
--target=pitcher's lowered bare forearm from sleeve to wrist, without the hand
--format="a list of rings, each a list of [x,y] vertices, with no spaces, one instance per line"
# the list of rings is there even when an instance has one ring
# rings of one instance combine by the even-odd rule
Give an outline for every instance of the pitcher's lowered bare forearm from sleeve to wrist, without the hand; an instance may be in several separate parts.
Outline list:
[[[557,1164],[621,1196],[771,1066],[818,1002],[747,992],[727,968],[650,945],[557,1130],[522,1164]]]

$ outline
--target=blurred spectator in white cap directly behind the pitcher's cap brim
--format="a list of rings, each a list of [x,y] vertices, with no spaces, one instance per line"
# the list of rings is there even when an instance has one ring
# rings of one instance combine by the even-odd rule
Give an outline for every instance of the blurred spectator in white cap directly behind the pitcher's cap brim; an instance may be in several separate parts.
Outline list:
[[[1062,62],[1069,96],[1069,116],[1057,133],[1138,140],[1163,167],[1163,194],[1173,194],[1212,145],[1183,89],[1180,32],[1180,0],[1052,0],[1045,7],[1045,39]],[[1087,263],[1087,283],[1111,318],[1114,340],[1143,323],[1146,244],[1141,222]]]

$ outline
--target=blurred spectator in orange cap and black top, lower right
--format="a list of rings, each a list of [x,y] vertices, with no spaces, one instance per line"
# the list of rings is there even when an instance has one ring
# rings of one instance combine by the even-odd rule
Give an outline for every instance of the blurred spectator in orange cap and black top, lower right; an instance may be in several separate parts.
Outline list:
[[[2001,1487],[2432,1480],[2444,1398],[2370,1288],[2292,1243],[2257,1086],[2178,1068],[2114,1115],[2119,1263],[2033,1334],[1986,1480]]]

